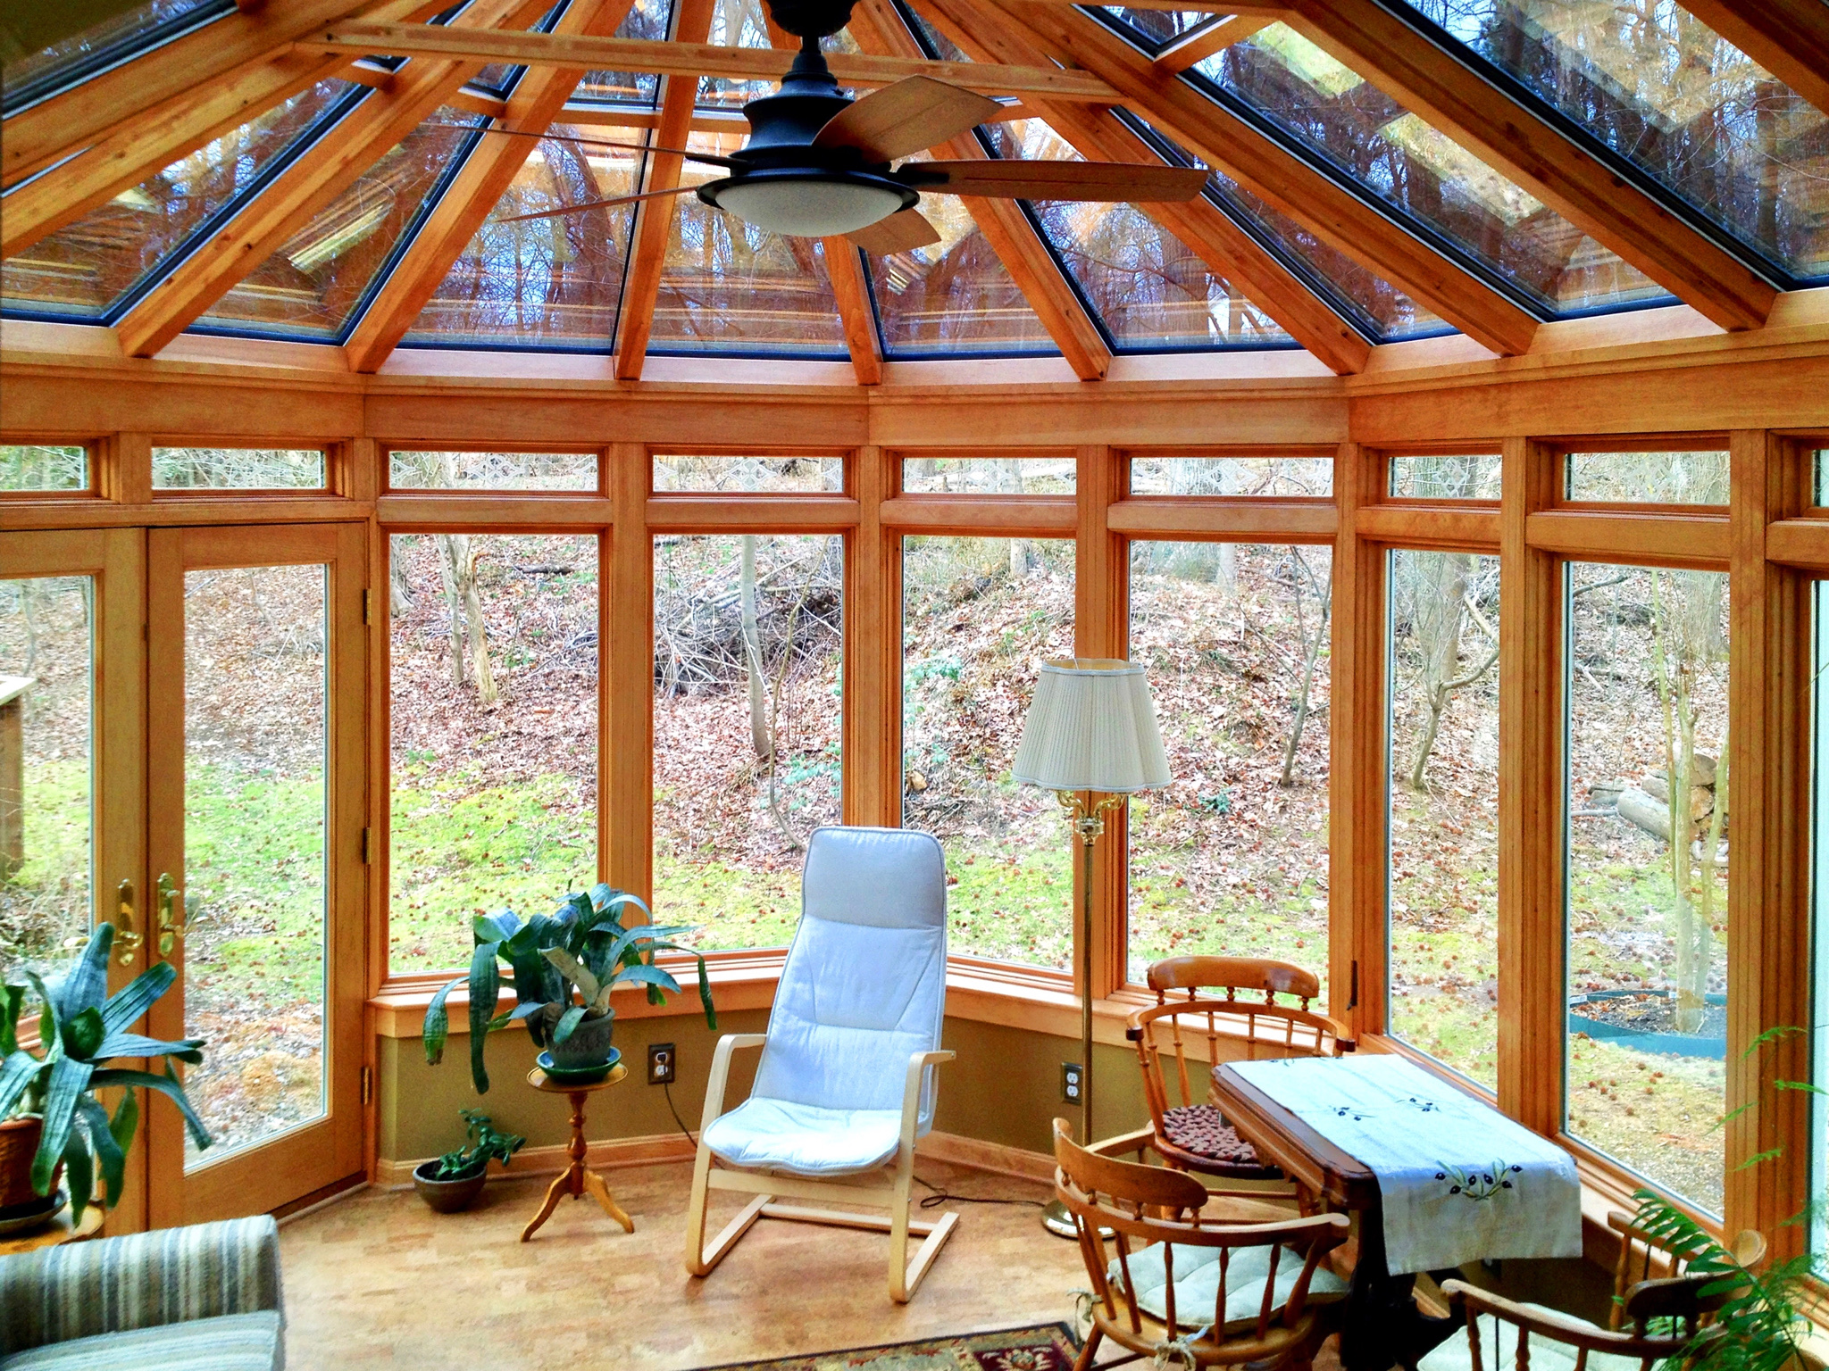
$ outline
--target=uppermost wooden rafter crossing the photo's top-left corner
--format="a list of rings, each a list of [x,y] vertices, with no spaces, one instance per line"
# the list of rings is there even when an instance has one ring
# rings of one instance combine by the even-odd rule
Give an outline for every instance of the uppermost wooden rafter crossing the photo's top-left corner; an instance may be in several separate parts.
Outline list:
[[[165,101],[210,82],[236,79],[243,66],[263,64],[313,29],[371,9],[377,9],[377,0],[293,0],[225,15],[102,71],[93,80],[20,110],[5,121],[0,137],[0,185],[13,185],[68,157]]]

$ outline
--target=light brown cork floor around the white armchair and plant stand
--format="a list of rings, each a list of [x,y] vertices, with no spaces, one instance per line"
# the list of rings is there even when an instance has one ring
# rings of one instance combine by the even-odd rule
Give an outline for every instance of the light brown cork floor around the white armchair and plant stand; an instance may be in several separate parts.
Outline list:
[[[936,1161],[918,1174],[966,1196],[1048,1197]],[[958,1228],[907,1305],[889,1300],[887,1236],[805,1223],[765,1219],[693,1280],[690,1177],[690,1163],[605,1172],[633,1234],[583,1199],[521,1243],[547,1177],[492,1183],[466,1214],[432,1214],[412,1190],[305,1214],[280,1230],[287,1367],[684,1371],[1066,1320],[1086,1283],[1077,1247],[1043,1232],[1033,1205],[951,1205]],[[711,1203],[717,1232],[741,1197]]]

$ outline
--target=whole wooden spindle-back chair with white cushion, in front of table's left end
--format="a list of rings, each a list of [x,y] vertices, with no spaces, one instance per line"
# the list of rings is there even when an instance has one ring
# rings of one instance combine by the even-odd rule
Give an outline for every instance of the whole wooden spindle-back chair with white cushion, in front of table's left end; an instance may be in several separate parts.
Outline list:
[[[1346,1241],[1346,1216],[1207,1217],[1209,1192],[1193,1175],[1108,1155],[1134,1146],[1125,1137],[1083,1148],[1064,1119],[1054,1122],[1055,1194],[1092,1278],[1092,1331],[1075,1371],[1105,1338],[1134,1353],[1105,1366],[1167,1349],[1183,1366],[1308,1371],[1344,1309],[1346,1285],[1322,1258]]]

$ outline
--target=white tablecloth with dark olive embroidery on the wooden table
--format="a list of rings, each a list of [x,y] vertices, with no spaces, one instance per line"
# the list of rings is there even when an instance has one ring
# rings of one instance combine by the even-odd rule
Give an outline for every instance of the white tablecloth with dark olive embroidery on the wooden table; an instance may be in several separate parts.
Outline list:
[[[1377,1175],[1392,1274],[1582,1254],[1575,1159],[1403,1057],[1231,1069]]]

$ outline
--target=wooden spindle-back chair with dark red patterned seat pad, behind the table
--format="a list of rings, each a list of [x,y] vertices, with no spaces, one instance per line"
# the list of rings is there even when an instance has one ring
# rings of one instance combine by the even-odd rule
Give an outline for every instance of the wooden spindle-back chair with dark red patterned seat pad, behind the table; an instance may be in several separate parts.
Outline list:
[[[1344,1024],[1310,1009],[1321,978],[1289,962],[1246,956],[1172,956],[1149,969],[1156,1004],[1130,1015],[1125,1036],[1138,1047],[1149,1102],[1150,1150],[1180,1170],[1275,1181],[1247,1141],[1211,1102],[1211,1062],[1238,1057],[1337,1057],[1353,1049]],[[1220,994],[1203,994],[1220,991]],[[1278,1004],[1288,994],[1300,1005]],[[1163,1038],[1167,1036],[1167,1042]],[[1189,1038],[1205,1038],[1207,1064],[1189,1069]],[[1225,1040],[1222,1053],[1220,1042]],[[1172,1071],[1163,1069],[1163,1057]],[[1169,1091],[1172,1084],[1180,1102]]]

